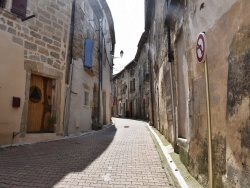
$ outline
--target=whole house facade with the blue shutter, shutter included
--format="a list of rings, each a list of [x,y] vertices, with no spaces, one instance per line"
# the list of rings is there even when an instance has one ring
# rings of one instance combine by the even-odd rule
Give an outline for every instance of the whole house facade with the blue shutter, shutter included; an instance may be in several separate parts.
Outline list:
[[[110,83],[115,34],[111,12],[106,1],[78,0],[75,7],[65,117],[67,134],[98,129],[110,123],[112,107]]]

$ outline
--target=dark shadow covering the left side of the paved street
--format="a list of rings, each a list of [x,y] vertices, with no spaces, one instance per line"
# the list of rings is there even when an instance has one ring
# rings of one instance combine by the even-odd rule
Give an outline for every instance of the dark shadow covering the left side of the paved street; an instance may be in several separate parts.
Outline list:
[[[0,150],[0,187],[53,187],[81,172],[111,144],[116,127],[82,137]]]

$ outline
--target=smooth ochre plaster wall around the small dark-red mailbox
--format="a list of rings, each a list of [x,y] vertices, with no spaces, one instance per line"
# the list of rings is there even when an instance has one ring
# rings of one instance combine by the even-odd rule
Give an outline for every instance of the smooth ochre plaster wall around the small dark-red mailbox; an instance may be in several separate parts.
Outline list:
[[[12,36],[0,30],[0,145],[10,144],[13,132],[20,131],[25,98],[24,48],[12,42]],[[21,98],[19,108],[12,97]]]

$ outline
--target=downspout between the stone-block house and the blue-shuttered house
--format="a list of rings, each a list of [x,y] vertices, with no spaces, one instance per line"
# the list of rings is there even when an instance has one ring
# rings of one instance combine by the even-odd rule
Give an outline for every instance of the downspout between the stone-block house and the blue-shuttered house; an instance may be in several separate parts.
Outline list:
[[[68,136],[68,125],[70,119],[70,99],[71,99],[71,89],[72,89],[72,78],[73,78],[73,46],[74,46],[74,33],[75,33],[75,5],[76,0],[72,2],[72,11],[71,11],[71,28],[70,28],[70,46],[69,46],[69,74],[68,74],[68,83],[69,86],[66,89],[65,105],[64,105],[64,136]],[[67,115],[66,115],[67,114]]]

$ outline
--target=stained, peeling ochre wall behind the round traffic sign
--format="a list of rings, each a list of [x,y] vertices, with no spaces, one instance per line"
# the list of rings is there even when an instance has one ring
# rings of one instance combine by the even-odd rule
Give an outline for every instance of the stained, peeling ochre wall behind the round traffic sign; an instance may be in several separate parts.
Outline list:
[[[214,187],[244,187],[249,185],[247,182],[249,169],[245,168],[247,162],[244,160],[249,150],[242,144],[248,140],[241,131],[247,132],[244,128],[249,124],[249,87],[246,81],[249,77],[247,71],[249,68],[246,67],[248,66],[246,62],[250,46],[247,37],[249,35],[247,10],[250,3],[228,1],[219,4],[218,9],[213,12],[211,12],[212,2],[210,3],[203,5],[202,2],[190,3],[187,14],[193,16],[193,19],[184,26],[185,32],[190,33],[186,35],[185,47],[188,64],[192,70],[189,78],[193,77],[194,80],[192,86],[194,123],[190,127],[192,133],[189,169],[203,184],[206,184],[207,163],[204,165],[204,158],[207,158],[207,127],[204,67],[196,63],[194,55],[189,55],[195,54],[194,33],[198,35],[198,32],[205,31],[213,131]],[[195,9],[196,12],[193,11]],[[241,14],[238,14],[238,11]],[[207,14],[208,12],[210,13]],[[210,17],[202,18],[203,15]],[[243,111],[239,113],[238,110]]]

